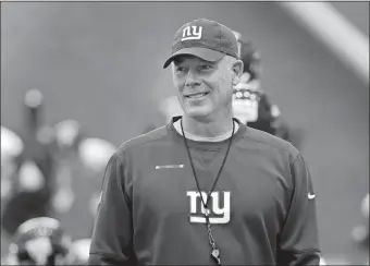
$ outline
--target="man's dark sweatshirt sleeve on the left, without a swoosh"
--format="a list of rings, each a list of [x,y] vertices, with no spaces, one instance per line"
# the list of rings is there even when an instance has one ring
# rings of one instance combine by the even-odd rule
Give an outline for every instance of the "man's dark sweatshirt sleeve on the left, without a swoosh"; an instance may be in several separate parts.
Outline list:
[[[89,265],[134,265],[131,201],[124,189],[123,161],[108,161],[94,225]]]

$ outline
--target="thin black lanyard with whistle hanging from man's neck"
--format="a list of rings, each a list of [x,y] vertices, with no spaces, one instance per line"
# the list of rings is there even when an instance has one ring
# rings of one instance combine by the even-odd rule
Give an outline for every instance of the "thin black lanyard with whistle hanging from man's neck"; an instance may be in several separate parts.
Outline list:
[[[220,167],[220,170],[213,181],[213,184],[211,186],[211,190],[208,192],[208,196],[207,196],[207,201],[203,200],[202,197],[202,194],[201,194],[201,191],[200,191],[200,186],[199,186],[199,181],[198,181],[198,178],[197,178],[197,173],[195,171],[195,167],[194,167],[194,162],[193,162],[193,158],[192,158],[192,155],[190,155],[190,149],[189,149],[189,146],[187,144],[187,140],[185,137],[185,132],[184,132],[184,126],[183,126],[183,119],[181,119],[181,130],[182,130],[182,133],[183,133],[183,138],[184,138],[184,143],[185,143],[185,146],[186,146],[186,152],[187,152],[187,155],[189,157],[189,160],[190,160],[190,166],[192,166],[192,170],[193,170],[193,174],[194,174],[194,179],[197,183],[197,189],[198,189],[198,192],[199,192],[199,195],[200,195],[200,198],[201,198],[201,203],[205,207],[205,217],[206,217],[206,226],[207,226],[207,233],[208,233],[208,238],[209,238],[209,244],[211,245],[211,257],[213,258],[213,261],[217,263],[217,265],[221,265],[221,254],[220,254],[220,249],[218,249],[218,246],[215,245],[215,240],[213,238],[213,234],[212,234],[212,228],[211,228],[211,223],[209,221],[209,214],[210,214],[210,210],[208,208],[208,203],[209,203],[209,198],[211,197],[211,194],[219,181],[219,178],[221,176],[221,172],[222,172],[222,169],[225,165],[225,161],[226,161],[226,158],[229,156],[229,152],[230,152],[230,147],[233,143],[233,136],[234,136],[234,131],[235,131],[235,124],[234,124],[234,121],[233,121],[233,132],[232,132],[232,135],[230,137],[230,141],[229,141],[229,146],[227,146],[227,149],[226,149],[226,154],[223,158],[223,161],[222,161],[222,165]]]

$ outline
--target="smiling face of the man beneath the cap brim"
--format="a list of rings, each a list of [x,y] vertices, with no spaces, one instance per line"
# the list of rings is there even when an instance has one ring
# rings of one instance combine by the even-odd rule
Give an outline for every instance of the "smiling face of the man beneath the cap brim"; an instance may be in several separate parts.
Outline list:
[[[218,62],[194,56],[173,61],[173,82],[184,112],[192,118],[210,118],[231,108],[234,71],[226,57]]]

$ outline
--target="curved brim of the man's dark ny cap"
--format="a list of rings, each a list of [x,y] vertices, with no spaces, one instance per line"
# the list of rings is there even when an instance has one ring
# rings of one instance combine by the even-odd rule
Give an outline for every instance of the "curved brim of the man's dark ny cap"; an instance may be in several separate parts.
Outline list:
[[[201,58],[202,60],[209,61],[209,62],[215,62],[219,61],[221,58],[223,58],[225,56],[225,53],[220,52],[220,51],[215,51],[215,50],[211,50],[208,48],[203,48],[203,47],[192,47],[192,48],[184,48],[181,49],[178,51],[176,51],[175,53],[173,53],[165,62],[163,65],[163,69],[168,68],[170,65],[170,63],[178,56],[195,56],[198,58]]]

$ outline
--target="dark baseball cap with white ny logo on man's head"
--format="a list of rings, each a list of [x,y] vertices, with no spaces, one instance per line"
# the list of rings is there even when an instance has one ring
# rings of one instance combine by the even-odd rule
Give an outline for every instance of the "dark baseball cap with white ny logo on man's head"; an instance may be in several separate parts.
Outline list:
[[[238,47],[232,29],[214,21],[198,19],[184,24],[176,32],[172,55],[164,62],[163,69],[181,55],[192,55],[215,62],[225,55],[238,58]]]

